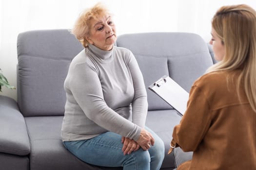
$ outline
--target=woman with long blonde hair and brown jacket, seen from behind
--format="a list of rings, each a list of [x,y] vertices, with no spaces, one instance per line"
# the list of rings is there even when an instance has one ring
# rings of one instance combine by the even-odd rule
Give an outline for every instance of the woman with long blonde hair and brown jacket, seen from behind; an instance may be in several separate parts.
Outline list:
[[[221,7],[212,20],[219,62],[194,83],[171,148],[193,151],[177,170],[256,170],[256,11]]]

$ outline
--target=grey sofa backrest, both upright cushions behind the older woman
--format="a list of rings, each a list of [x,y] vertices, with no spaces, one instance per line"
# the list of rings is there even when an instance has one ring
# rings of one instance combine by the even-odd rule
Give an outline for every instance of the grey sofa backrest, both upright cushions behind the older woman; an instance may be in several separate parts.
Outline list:
[[[141,33],[118,36],[119,47],[137,58],[146,88],[169,75],[189,91],[193,82],[213,64],[207,44],[197,34]],[[38,30],[19,34],[18,104],[23,116],[63,115],[63,83],[71,60],[83,49],[68,30]],[[170,109],[151,91],[149,110]]]

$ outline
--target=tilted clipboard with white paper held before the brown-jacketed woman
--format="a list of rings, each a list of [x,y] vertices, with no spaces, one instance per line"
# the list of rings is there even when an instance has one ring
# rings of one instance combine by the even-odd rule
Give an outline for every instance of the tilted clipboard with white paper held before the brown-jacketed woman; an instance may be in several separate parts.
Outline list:
[[[184,115],[187,109],[189,93],[171,77],[165,75],[148,88],[177,110],[180,116]]]

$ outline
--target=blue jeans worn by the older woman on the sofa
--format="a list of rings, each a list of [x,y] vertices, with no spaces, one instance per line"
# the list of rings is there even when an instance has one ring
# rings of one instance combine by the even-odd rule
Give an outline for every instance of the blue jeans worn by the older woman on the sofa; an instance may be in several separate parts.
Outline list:
[[[64,146],[82,161],[103,167],[123,167],[123,170],[159,170],[164,158],[164,144],[157,134],[145,128],[155,138],[148,151],[139,149],[123,155],[120,135],[106,132],[87,140],[64,141]]]

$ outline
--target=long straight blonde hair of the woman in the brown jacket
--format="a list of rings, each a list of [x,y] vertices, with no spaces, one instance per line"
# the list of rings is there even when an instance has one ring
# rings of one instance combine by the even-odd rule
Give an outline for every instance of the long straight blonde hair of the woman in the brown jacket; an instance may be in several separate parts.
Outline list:
[[[243,84],[256,112],[256,11],[245,4],[223,6],[213,17],[212,28],[224,44],[225,55],[206,72],[241,69],[237,93]]]

